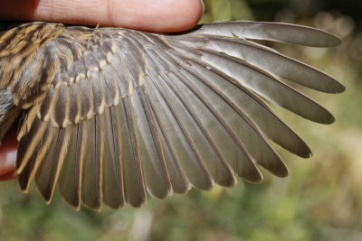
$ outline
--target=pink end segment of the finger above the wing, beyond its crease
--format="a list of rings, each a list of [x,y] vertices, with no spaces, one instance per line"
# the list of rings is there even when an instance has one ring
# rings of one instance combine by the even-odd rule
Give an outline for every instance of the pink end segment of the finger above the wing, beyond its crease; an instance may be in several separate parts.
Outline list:
[[[199,22],[203,14],[200,0],[113,1],[110,22],[115,26],[148,32],[181,32]]]

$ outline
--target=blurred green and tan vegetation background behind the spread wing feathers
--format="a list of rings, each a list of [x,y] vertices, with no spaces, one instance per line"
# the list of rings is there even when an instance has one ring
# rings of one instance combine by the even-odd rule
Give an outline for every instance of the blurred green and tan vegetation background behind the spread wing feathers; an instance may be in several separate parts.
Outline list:
[[[206,0],[202,22],[279,21],[316,26],[343,44],[324,50],[272,47],[339,79],[341,95],[308,93],[336,116],[318,125],[277,112],[314,151],[303,160],[277,148],[291,174],[263,171],[261,185],[191,190],[141,209],[74,211],[56,194],[47,206],[34,188],[0,183],[0,240],[362,240],[362,1]]]

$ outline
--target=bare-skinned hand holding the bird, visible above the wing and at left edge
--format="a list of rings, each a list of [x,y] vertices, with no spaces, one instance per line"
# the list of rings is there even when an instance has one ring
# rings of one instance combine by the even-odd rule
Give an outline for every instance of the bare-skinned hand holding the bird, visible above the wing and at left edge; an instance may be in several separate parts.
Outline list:
[[[200,0],[0,0],[1,20],[118,26],[148,32],[180,32],[201,18]],[[16,134],[0,146],[0,181],[17,177]]]

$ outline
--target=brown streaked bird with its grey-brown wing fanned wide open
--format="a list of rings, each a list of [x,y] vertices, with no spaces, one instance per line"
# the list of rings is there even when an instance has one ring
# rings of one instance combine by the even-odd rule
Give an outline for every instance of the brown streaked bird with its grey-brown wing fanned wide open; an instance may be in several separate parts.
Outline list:
[[[236,21],[155,33],[63,23],[1,24],[0,140],[15,129],[21,190],[57,188],[74,209],[138,208],[192,187],[260,183],[288,168],[271,142],[310,147],[271,103],[320,124],[335,118],[299,86],[337,79],[265,46],[334,47],[308,26]],[[288,80],[288,81],[285,81]],[[295,83],[291,86],[291,82]]]

